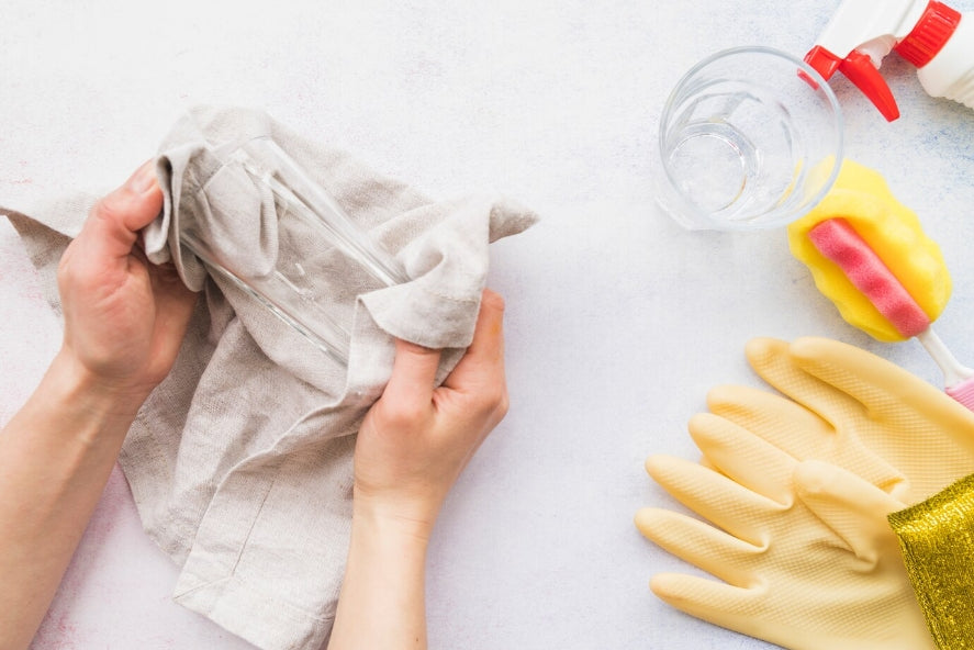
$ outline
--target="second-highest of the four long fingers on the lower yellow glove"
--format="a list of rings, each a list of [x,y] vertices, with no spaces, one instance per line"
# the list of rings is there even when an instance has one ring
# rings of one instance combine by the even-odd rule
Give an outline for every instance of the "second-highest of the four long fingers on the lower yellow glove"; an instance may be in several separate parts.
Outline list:
[[[673,498],[753,546],[765,543],[768,517],[787,508],[688,460],[651,456],[646,471]]]

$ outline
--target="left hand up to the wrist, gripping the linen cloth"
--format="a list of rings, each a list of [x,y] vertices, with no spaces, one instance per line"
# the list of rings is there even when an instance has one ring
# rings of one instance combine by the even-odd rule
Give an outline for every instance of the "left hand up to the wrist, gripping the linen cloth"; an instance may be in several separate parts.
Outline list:
[[[137,246],[161,208],[148,161],[92,209],[57,274],[59,359],[135,408],[172,367],[195,299],[175,268],[149,264]]]

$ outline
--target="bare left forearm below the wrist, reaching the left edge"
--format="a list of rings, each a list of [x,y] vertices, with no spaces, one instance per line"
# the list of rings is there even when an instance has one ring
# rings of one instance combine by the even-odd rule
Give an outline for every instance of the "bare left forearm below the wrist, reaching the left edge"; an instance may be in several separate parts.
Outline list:
[[[93,512],[136,401],[61,354],[0,432],[0,650],[26,648]]]

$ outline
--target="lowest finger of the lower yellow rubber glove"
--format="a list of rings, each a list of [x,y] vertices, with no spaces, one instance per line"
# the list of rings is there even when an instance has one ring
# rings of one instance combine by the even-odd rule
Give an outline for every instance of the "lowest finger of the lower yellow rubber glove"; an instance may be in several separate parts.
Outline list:
[[[753,636],[750,628],[753,626],[754,614],[760,610],[760,593],[757,590],[679,573],[653,575],[649,587],[671,607],[714,625]]]

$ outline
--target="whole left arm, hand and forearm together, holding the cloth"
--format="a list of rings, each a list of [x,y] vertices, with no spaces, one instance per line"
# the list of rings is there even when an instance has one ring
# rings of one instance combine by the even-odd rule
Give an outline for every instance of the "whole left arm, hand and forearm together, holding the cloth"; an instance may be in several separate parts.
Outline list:
[[[186,332],[193,294],[135,246],[161,201],[144,166],[92,210],[61,259],[61,349],[0,432],[0,650],[31,642]]]

